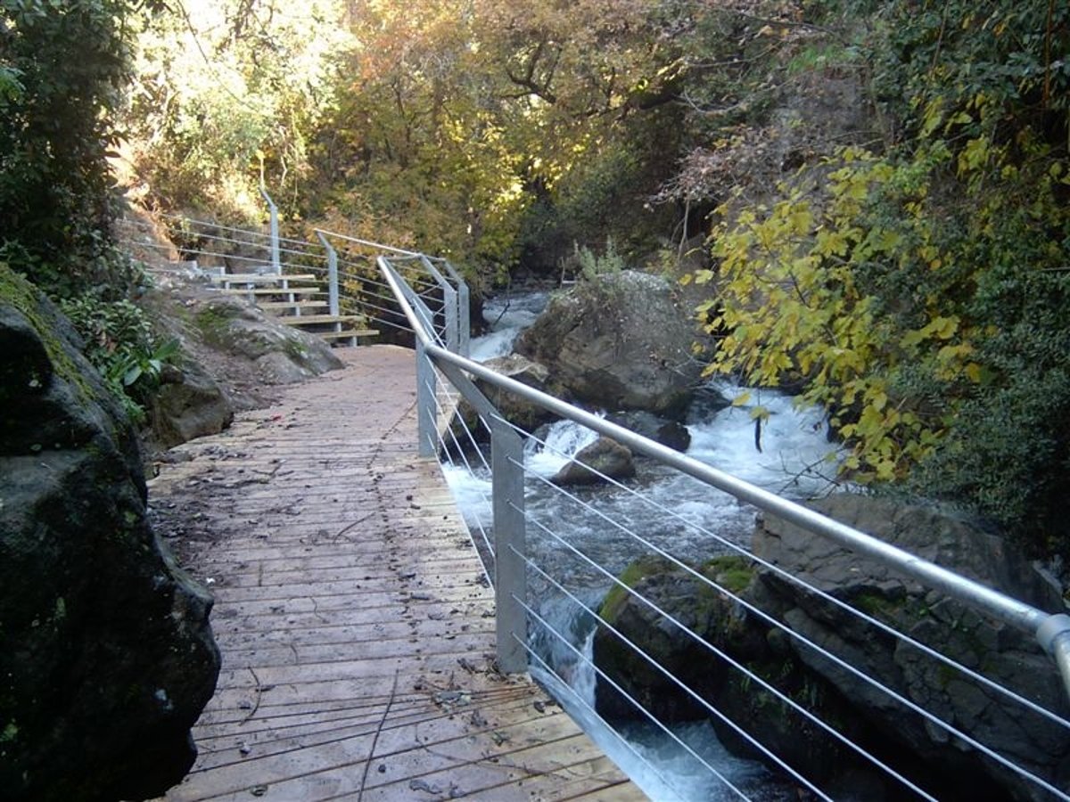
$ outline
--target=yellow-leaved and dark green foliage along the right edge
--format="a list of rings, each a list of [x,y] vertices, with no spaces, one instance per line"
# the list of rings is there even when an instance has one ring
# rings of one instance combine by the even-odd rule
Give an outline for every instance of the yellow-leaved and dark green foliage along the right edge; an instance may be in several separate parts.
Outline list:
[[[801,382],[854,479],[1070,553],[1067,24],[1039,2],[882,5],[874,87],[905,136],[725,204],[717,268],[687,280],[716,287],[710,370]]]

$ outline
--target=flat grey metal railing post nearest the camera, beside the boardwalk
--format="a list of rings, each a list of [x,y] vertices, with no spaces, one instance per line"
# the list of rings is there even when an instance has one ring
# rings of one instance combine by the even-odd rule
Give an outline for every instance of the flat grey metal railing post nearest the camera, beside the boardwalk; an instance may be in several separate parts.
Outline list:
[[[524,449],[520,435],[499,418],[491,420],[490,453],[498,667],[504,674],[519,674],[528,670]]]

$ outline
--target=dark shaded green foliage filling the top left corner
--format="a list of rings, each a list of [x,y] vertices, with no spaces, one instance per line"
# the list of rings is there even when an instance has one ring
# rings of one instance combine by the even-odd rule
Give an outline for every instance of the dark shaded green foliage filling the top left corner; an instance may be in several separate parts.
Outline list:
[[[0,1],[0,247],[52,291],[102,278],[126,16],[119,0]]]

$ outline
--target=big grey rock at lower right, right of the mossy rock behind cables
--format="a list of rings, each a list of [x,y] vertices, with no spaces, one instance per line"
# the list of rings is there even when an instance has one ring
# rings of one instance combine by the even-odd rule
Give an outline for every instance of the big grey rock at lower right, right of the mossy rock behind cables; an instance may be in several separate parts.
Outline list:
[[[1003,538],[975,521],[933,507],[857,495],[831,496],[813,506],[830,518],[1041,610],[1064,610],[1059,588]],[[779,519],[769,518],[759,525],[753,549],[759,556],[813,587],[851,602],[969,668],[982,670],[1020,695],[1064,715],[1070,712],[1055,664],[1031,635],[983,618],[891,569]],[[784,620],[794,631],[846,658],[863,673],[973,734],[1014,762],[1064,784],[1070,781],[1070,732],[795,583],[771,572],[764,574],[763,581],[779,598]],[[893,732],[919,760],[981,777],[982,783],[987,776],[990,785],[997,784],[1004,795],[1015,799],[1048,798],[827,658],[796,641],[792,648],[810,672],[839,688],[869,721]]]

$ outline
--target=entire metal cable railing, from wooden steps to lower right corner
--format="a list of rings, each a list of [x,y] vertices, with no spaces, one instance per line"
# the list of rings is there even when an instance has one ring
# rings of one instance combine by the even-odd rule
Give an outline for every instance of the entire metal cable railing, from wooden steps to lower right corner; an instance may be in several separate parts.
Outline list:
[[[776,678],[736,659],[694,627],[688,626],[688,621],[682,620],[678,613],[667,608],[657,598],[644,596],[623,581],[622,569],[632,557],[621,562],[621,555],[614,553],[612,559],[608,559],[605,550],[598,552],[590,541],[579,538],[571,522],[582,516],[596,521],[602,527],[598,538],[611,540],[613,551],[627,549],[632,556],[657,556],[691,582],[700,595],[727,600],[749,620],[768,628],[770,632],[782,633],[794,644],[792,648],[797,653],[816,656],[813,659],[825,661],[850,681],[859,683],[867,693],[885,699],[882,704],[910,711],[923,728],[935,734],[934,742],[953,744],[954,750],[964,754],[983,756],[983,766],[994,767],[985,768],[985,771],[995,772],[994,776],[998,777],[1013,777],[1012,782],[1023,789],[1020,792],[1022,799],[1070,801],[1066,780],[1049,770],[1042,761],[1004,749],[1005,743],[993,735],[994,725],[972,731],[958,720],[953,709],[927,706],[923,700],[919,701],[885,678],[870,676],[854,665],[851,659],[837,653],[836,649],[826,648],[806,633],[793,629],[776,611],[764,610],[753,599],[740,593],[738,588],[718,582],[716,577],[710,579],[696,567],[691,556],[681,556],[674,547],[666,545],[660,536],[640,531],[639,525],[628,515],[609,510],[594,495],[569,491],[534,472],[528,464],[526,451],[532,444],[536,448],[549,449],[546,438],[510,422],[477,385],[495,394],[522,399],[560,419],[575,421],[627,446],[635,453],[649,458],[666,469],[691,477],[704,488],[728,493],[758,510],[849,549],[859,557],[887,566],[934,593],[956,599],[993,621],[1025,633],[1052,656],[1057,676],[1061,677],[1064,688],[1070,693],[1070,617],[1066,614],[1050,613],[1023,603],[469,359],[468,287],[446,260],[322,230],[315,232],[316,242],[307,242],[280,237],[277,233],[240,231],[210,221],[195,222],[177,217],[163,217],[160,225],[172,240],[181,244],[183,256],[187,259],[229,264],[238,266],[239,272],[248,269],[247,265],[272,271],[277,265],[282,273],[322,275],[330,286],[332,313],[360,313],[382,329],[412,337],[416,351],[419,453],[427,458],[445,459],[456,471],[477,477],[474,485],[478,502],[487,510],[485,515],[471,516],[470,527],[484,557],[488,580],[494,588],[498,662],[502,670],[531,669],[564,695],[570,693],[568,683],[564,681],[567,674],[571,675],[572,684],[580,674],[597,681],[599,688],[609,689],[624,698],[632,707],[637,720],[645,722],[664,742],[701,767],[714,786],[723,788],[732,798],[749,799],[751,791],[746,784],[725,772],[718,759],[703,750],[701,738],[696,740],[678,731],[658,711],[652,710],[651,705],[636,698],[618,681],[620,677],[613,676],[594,660],[588,646],[592,631],[597,628],[623,644],[637,657],[645,672],[686,698],[714,722],[719,731],[745,743],[766,765],[776,767],[792,786],[806,789],[817,799],[835,798],[823,787],[822,780],[808,776],[792,759],[778,754],[776,744],[766,744],[753,736],[747,722],[720,710],[667,667],[656,654],[644,649],[628,632],[606,620],[600,615],[599,604],[607,591],[611,591],[633,601],[659,627],[667,628],[698,653],[706,656],[704,659],[725,666],[725,670],[737,677],[738,682],[753,689],[754,693],[776,700],[780,706],[778,709],[788,711],[786,714],[794,716],[793,721],[797,721],[800,727],[808,727],[808,731],[819,734],[853,758],[867,762],[874,772],[905,789],[912,798],[939,798],[938,791],[926,785],[927,780],[919,780],[910,768],[904,770],[901,764],[889,760],[868,743],[854,738],[850,726],[827,721],[820,709],[812,708],[807,699],[798,698],[798,694],[793,694],[791,690],[784,690]],[[143,246],[147,245],[146,237],[140,236],[144,232],[134,223],[127,226],[127,241],[139,238]],[[467,405],[474,414],[455,414],[459,404]],[[588,469],[593,471],[590,466]],[[889,642],[899,644],[896,648],[934,661],[937,666],[935,672],[945,680],[953,678],[956,682],[968,682],[979,689],[978,693],[984,698],[998,698],[1000,705],[1021,710],[1021,719],[1014,719],[1013,726],[1035,729],[1041,734],[1038,739],[1056,744],[1053,750],[1065,749],[1064,765],[1070,766],[1070,721],[1067,720],[1065,697],[1029,698],[1015,690],[1012,687],[1014,683],[1007,677],[988,676],[982,670],[984,660],[979,658],[977,665],[956,662],[941,653],[938,645],[923,643],[900,631],[893,623],[858,608],[857,604],[849,604],[835,593],[805,583],[713,526],[683,514],[672,505],[651,498],[642,489],[609,477],[601,478],[613,494],[642,505],[671,526],[701,538],[708,550],[736,555],[755,570],[802,588],[813,599],[844,616],[845,620],[854,621],[852,626],[873,628]],[[552,500],[540,500],[539,494]],[[548,507],[556,508],[559,514],[546,514]],[[620,547],[616,544],[621,544]],[[555,559],[570,560],[575,567],[571,570],[581,574],[582,580],[565,576],[549,558],[551,553]],[[582,636],[553,620],[552,604],[559,602],[577,611],[578,620],[583,622]],[[574,693],[570,698],[581,715],[595,722],[599,720],[598,706],[590,696]],[[668,789],[670,795],[673,792],[677,781],[667,776],[662,767],[652,760],[645,750],[630,741],[623,742],[618,749],[624,750],[627,759],[645,764],[646,771],[657,780],[657,787]],[[690,797],[687,791],[678,791],[676,798]],[[762,798],[768,799],[768,796],[763,792]],[[998,791],[992,798],[999,798]]]

